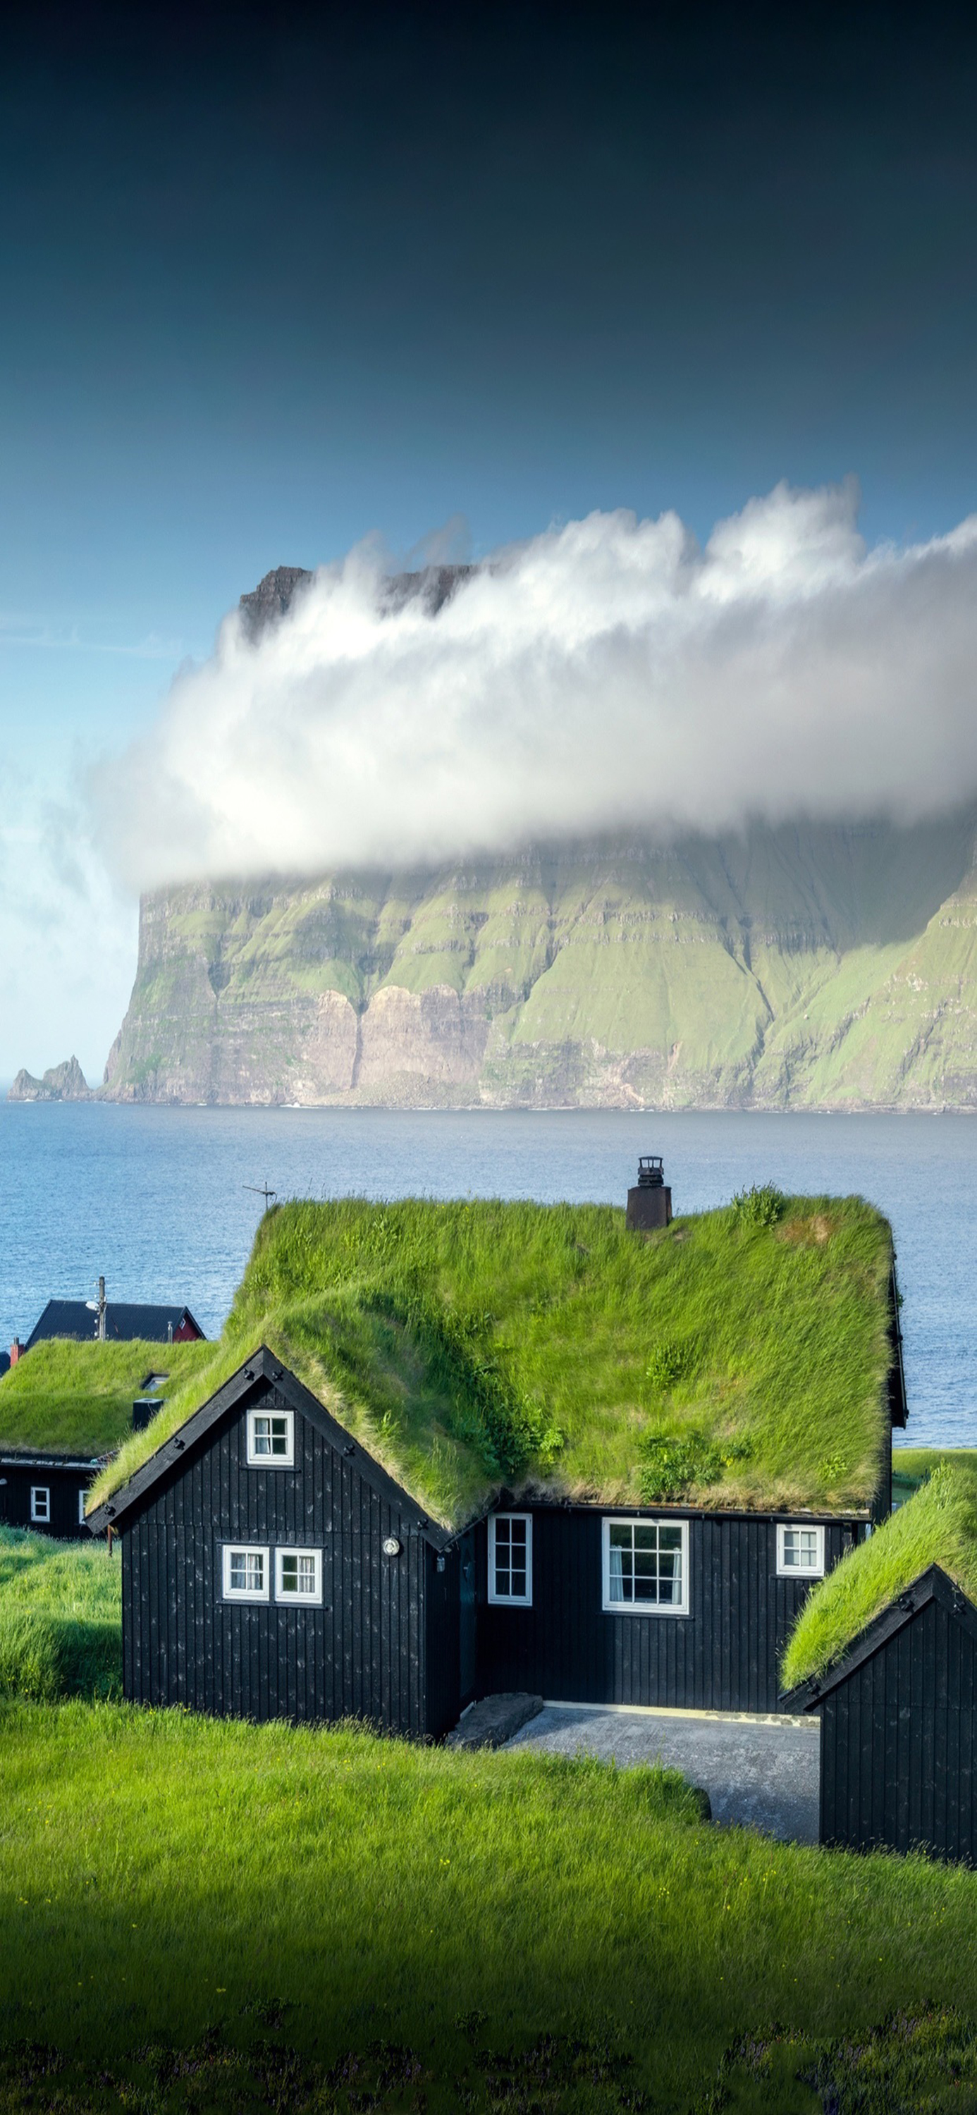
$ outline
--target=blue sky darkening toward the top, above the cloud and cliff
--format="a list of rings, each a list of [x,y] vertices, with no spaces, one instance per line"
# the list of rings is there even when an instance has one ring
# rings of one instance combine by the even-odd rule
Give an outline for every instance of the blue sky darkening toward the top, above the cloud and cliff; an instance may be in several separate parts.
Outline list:
[[[49,6],[13,34],[0,1077],[102,1066],[135,914],[51,804],[271,565],[620,505],[706,537],[780,478],[854,474],[869,539],[975,508],[947,23]]]

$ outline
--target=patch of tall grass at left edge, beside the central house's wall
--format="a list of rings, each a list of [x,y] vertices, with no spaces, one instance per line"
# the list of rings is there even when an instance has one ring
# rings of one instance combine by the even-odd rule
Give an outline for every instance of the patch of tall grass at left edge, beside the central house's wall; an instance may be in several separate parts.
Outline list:
[[[0,1527],[0,1696],[121,1696],[121,1565],[104,1542]]]

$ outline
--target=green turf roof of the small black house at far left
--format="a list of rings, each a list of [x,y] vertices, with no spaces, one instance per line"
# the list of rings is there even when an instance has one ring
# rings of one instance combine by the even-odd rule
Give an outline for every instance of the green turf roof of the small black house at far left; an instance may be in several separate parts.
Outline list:
[[[112,1453],[133,1426],[148,1373],[186,1383],[214,1358],[211,1343],[74,1343],[44,1337],[0,1381],[0,1451]]]

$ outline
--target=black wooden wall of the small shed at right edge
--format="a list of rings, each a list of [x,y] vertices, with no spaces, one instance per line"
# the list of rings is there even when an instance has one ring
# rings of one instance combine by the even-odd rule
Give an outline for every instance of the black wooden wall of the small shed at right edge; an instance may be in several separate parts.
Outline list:
[[[926,1601],[821,1703],[821,1840],[977,1861],[977,1643]]]

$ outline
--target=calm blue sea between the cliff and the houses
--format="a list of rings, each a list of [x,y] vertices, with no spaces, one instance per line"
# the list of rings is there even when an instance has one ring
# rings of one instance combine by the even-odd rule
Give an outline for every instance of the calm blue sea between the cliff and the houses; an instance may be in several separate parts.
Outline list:
[[[44,1301],[231,1307],[264,1191],[624,1203],[662,1153],[675,1212],[753,1182],[861,1193],[895,1229],[909,1426],[977,1447],[977,1117],[626,1110],[127,1108],[0,1102],[0,1345]]]

